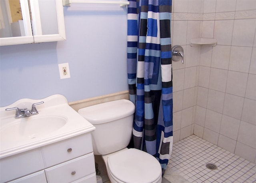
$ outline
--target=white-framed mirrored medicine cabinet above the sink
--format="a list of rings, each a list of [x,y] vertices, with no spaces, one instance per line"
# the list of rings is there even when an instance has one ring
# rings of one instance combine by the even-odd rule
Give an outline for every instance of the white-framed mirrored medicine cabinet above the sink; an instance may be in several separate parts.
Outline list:
[[[0,0],[0,46],[65,40],[62,0]]]

